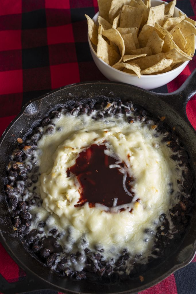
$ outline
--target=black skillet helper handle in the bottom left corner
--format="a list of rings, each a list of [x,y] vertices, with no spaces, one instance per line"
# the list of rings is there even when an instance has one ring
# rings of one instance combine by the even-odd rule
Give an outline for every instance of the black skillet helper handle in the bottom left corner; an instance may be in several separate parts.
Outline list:
[[[26,275],[24,280],[13,283],[7,282],[0,274],[0,291],[3,294],[22,294],[42,289],[47,288],[46,286],[44,287],[44,283],[42,283],[41,279],[37,280],[29,274]]]

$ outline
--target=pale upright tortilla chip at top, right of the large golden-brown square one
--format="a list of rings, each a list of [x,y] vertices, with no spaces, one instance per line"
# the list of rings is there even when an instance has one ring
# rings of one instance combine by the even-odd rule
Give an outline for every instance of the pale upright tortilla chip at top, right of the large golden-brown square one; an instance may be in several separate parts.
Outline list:
[[[165,5],[161,4],[155,7],[151,7],[148,15],[147,25],[148,26],[155,26],[155,23],[163,25],[163,21],[165,18]]]

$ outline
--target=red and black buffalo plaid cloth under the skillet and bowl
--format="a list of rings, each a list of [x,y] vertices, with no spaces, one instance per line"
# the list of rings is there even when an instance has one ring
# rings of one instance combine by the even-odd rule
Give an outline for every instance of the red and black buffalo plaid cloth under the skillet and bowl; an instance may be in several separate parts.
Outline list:
[[[177,0],[178,8],[196,20],[196,0]],[[105,80],[90,54],[87,21],[98,11],[96,0],[0,1],[0,132],[32,98],[71,83]],[[154,92],[178,89],[196,67],[196,56],[184,71]],[[187,115],[196,128],[196,96]],[[26,275],[0,244],[0,274],[10,283]],[[196,293],[196,258],[164,281],[140,294]],[[1,290],[1,289],[0,289]],[[57,294],[41,290],[36,294]]]

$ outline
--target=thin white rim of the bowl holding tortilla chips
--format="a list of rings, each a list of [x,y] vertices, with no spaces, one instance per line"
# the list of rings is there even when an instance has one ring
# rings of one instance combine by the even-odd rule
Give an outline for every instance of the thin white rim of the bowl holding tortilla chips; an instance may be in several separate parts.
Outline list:
[[[161,3],[161,4],[165,4],[165,6],[168,4],[168,2],[165,2],[165,1],[162,1],[162,0],[152,0],[152,1],[156,1],[156,2],[159,2],[159,3]],[[152,6],[153,7],[153,6]],[[180,10],[179,8],[177,8],[176,6],[174,7],[174,9],[177,9],[177,12],[178,11],[180,11],[180,12],[182,12],[183,14],[185,14],[182,10]],[[95,19],[98,19],[98,16],[99,16],[99,11],[93,16],[93,18],[92,18],[92,20],[94,21]],[[95,50],[94,50],[94,48],[93,48],[93,46],[92,46],[92,42],[91,42],[91,40],[90,40],[90,38],[89,38],[89,34],[88,34],[88,32],[87,32],[87,35],[88,35],[88,44],[89,44],[89,47],[90,47],[90,49],[91,49],[91,52],[93,52],[93,54],[94,54],[94,56],[98,59],[98,60],[100,60],[105,66],[107,66],[109,69],[113,69],[114,70],[114,72],[117,72],[117,73],[119,73],[119,72],[121,72],[123,75],[125,75],[125,76],[129,76],[129,77],[131,77],[131,78],[138,78],[138,76],[137,75],[134,75],[134,74],[128,74],[128,73],[126,73],[126,72],[124,72],[124,71],[120,71],[119,69],[115,69],[114,67],[112,67],[111,65],[109,65],[109,64],[107,64],[105,61],[103,61],[100,57],[97,57],[97,55],[96,55],[96,52],[95,52]],[[196,38],[196,36],[195,36],[195,38]],[[195,42],[195,48],[196,48],[196,42]],[[167,74],[168,73],[175,73],[176,71],[178,71],[178,70],[180,70],[181,69],[181,67],[183,67],[183,66],[187,66],[187,64],[189,63],[189,61],[190,60],[187,60],[187,61],[184,61],[182,64],[180,64],[179,66],[177,66],[175,69],[171,69],[170,71],[167,71],[167,72],[165,72],[165,73],[162,73],[162,74],[153,74],[153,75],[141,75],[141,78],[149,78],[149,77],[153,77],[153,78],[155,78],[155,77],[163,77],[163,76],[167,76]],[[183,70],[183,69],[182,69]],[[181,71],[182,72],[182,71]],[[179,75],[179,74],[178,74]],[[178,76],[177,75],[177,76]]]

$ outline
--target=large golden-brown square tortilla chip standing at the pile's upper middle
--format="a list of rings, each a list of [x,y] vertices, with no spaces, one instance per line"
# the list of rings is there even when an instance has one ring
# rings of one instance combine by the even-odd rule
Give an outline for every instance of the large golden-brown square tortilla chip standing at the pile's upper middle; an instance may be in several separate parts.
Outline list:
[[[142,22],[143,10],[132,6],[124,5],[120,17],[121,28],[137,27],[139,29]]]

